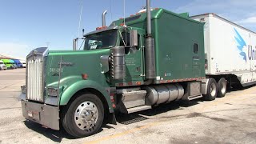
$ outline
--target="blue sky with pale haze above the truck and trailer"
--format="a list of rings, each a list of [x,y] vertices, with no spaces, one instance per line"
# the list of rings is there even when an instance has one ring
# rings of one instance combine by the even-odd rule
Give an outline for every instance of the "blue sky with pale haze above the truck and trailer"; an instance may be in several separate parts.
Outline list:
[[[50,50],[71,50],[82,2],[81,30],[86,32],[101,26],[104,10],[108,10],[107,25],[123,18],[123,0],[1,0],[0,54],[25,58],[30,50],[47,46],[47,42]],[[146,0],[126,0],[126,16],[142,6]],[[151,0],[151,7],[190,15],[215,13],[256,31],[255,0]]]

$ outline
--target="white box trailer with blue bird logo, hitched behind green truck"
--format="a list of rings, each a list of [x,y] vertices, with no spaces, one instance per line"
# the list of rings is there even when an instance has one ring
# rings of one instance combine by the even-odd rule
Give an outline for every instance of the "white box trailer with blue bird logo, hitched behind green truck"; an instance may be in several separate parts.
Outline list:
[[[226,86],[256,83],[256,33],[217,14],[190,17],[205,22],[206,76],[218,82],[218,96]]]

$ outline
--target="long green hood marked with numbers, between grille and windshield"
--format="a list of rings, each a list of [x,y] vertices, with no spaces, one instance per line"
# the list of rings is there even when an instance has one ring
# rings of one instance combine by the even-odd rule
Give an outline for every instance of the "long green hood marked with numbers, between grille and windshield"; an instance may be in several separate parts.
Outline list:
[[[110,55],[110,49],[49,51],[46,58],[46,86],[56,86],[58,80],[60,86],[70,86],[72,82],[82,80],[82,74],[87,74],[87,80],[105,85],[106,76],[102,73],[100,61],[102,55]]]

